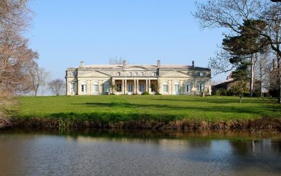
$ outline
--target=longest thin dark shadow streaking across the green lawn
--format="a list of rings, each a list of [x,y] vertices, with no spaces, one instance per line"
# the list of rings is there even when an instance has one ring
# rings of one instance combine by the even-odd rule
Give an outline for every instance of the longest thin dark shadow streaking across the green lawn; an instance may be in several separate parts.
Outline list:
[[[107,108],[155,108],[160,111],[197,111],[197,112],[221,112],[221,113],[248,113],[255,115],[268,115],[270,106],[263,107],[234,107],[234,106],[173,106],[165,104],[140,104],[140,103],[75,103],[87,107],[102,106]],[[144,112],[145,113],[145,112]]]

